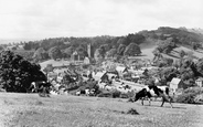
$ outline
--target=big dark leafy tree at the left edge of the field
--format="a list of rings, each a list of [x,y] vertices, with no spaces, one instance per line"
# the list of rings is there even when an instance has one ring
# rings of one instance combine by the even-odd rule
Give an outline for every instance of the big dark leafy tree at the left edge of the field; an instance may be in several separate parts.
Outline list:
[[[25,93],[34,81],[46,81],[39,64],[30,63],[11,51],[0,53],[1,84],[7,92]]]

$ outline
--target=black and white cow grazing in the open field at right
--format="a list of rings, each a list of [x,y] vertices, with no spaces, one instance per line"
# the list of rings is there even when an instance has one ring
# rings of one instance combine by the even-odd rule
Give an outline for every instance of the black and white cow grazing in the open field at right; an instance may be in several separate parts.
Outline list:
[[[141,104],[143,105],[143,99],[148,98],[149,105],[151,105],[151,97],[161,97],[161,107],[163,106],[164,102],[169,102],[171,107],[173,107],[171,104],[172,97],[169,95],[168,86],[146,86],[136,94],[133,100],[137,102],[138,99],[141,99]]]

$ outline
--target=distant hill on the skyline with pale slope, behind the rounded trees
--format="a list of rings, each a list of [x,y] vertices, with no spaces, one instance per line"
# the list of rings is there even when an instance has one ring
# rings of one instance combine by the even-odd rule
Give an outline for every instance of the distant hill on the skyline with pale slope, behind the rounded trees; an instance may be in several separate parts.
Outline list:
[[[28,41],[24,44],[26,51],[35,51],[39,47],[43,47],[46,52],[53,46],[57,46],[62,52],[71,47],[72,51],[82,51],[82,54],[87,54],[87,44],[90,44],[92,56],[97,49],[100,49],[103,53],[116,49],[118,51],[119,46],[122,44],[126,47],[130,43],[136,43],[140,46],[142,51],[142,57],[152,57],[152,51],[158,46],[159,42],[171,39],[180,47],[191,49],[193,42],[197,43],[200,46],[203,45],[203,30],[202,29],[186,29],[186,28],[170,28],[160,27],[157,30],[143,30],[137,33],[128,33],[124,36],[93,36],[93,38],[52,38],[44,39],[40,41],[35,40],[0,40],[0,43],[12,43],[20,41]],[[79,49],[78,49],[79,47]],[[195,51],[196,52],[196,51]],[[200,54],[202,51],[200,51]],[[118,52],[116,52],[118,54]],[[195,54],[195,53],[194,53]],[[119,54],[124,55],[124,54]],[[171,55],[172,56],[172,55]]]

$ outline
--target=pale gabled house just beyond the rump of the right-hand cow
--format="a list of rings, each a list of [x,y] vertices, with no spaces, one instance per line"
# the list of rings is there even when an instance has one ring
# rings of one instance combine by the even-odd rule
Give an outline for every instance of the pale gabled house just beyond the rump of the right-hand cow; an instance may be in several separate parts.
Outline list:
[[[170,88],[175,92],[178,88],[183,88],[184,83],[181,78],[173,77],[170,83]]]

